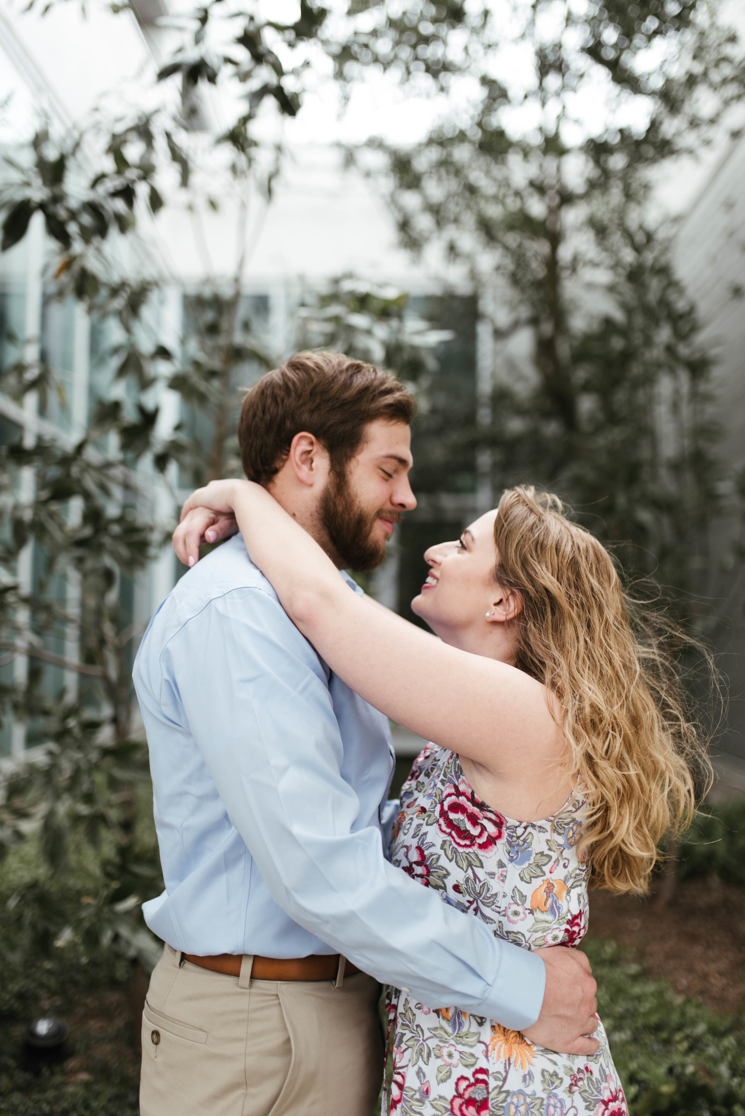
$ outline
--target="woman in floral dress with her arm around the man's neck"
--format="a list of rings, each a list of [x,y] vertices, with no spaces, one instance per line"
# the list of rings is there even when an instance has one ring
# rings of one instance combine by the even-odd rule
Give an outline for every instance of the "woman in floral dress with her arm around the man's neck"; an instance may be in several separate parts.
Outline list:
[[[580,942],[590,881],[647,888],[660,837],[690,817],[689,763],[703,750],[674,672],[635,637],[611,558],[555,497],[510,489],[458,541],[426,552],[412,607],[435,636],[349,593],[259,485],[215,482],[182,516],[200,506],[232,509],[331,670],[433,741],[401,792],[393,860],[404,872],[525,949]],[[405,991],[387,1002],[384,1112],[627,1112],[602,1027],[597,1055],[559,1056]]]

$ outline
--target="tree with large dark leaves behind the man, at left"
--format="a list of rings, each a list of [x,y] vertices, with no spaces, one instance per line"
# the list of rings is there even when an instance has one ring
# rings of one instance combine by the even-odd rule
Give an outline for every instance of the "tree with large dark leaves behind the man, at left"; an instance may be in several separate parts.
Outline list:
[[[98,889],[83,907],[77,901],[60,907],[56,893],[31,885],[29,941],[46,951],[59,941],[85,951],[98,935],[145,965],[153,960],[138,903],[162,881],[156,849],[138,837],[138,807],[147,811],[149,802],[137,790],[147,778],[146,749],[132,724],[141,632],[133,586],[170,537],[178,489],[240,472],[240,387],[272,358],[244,292],[248,206],[257,192],[271,199],[281,158],[258,121],[262,113],[280,121],[297,113],[307,64],[318,64],[313,46],[317,56],[332,50],[318,41],[326,16],[303,2],[296,23],[250,11],[235,29],[217,2],[209,4],[185,19],[187,41],[158,75],[178,83],[175,97],[156,112],[99,118],[74,135],[45,125],[8,160],[3,251],[23,241],[33,222],[43,223],[56,250],[47,263],[54,295],[86,308],[108,337],[113,368],[110,392],[81,435],[25,436],[0,450],[8,527],[0,539],[0,651],[6,665],[28,662],[0,699],[3,716],[12,712],[45,745],[7,781],[0,856],[38,834],[56,877],[89,863],[91,848],[98,865]],[[217,49],[212,44],[226,29],[230,44]],[[209,140],[193,131],[204,81],[239,94],[230,99],[232,122]],[[197,220],[205,208],[230,205],[239,248],[232,277],[207,277],[199,295],[184,299],[174,345],[158,314],[165,279],[139,230],[178,194]],[[344,346],[416,379],[434,367],[442,335],[407,317],[406,301],[396,290],[339,280],[327,294],[309,292],[301,333],[309,344]],[[28,338],[13,340],[25,353],[0,368],[0,392],[19,406],[31,401],[43,411],[56,397],[64,407],[54,369],[29,353]],[[161,421],[167,393],[181,415],[172,429]],[[19,573],[31,548],[37,577],[29,580]],[[64,686],[50,668],[67,674]]]

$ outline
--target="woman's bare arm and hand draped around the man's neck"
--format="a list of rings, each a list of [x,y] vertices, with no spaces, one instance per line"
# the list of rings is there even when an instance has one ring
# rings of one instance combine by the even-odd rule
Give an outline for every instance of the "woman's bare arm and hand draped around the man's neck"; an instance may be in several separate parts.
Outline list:
[[[331,670],[376,709],[494,775],[555,760],[559,730],[541,683],[505,663],[449,647],[351,593],[321,547],[259,484],[216,481],[199,489],[182,521],[195,508],[234,512],[252,561],[287,614]],[[174,547],[191,565],[199,536],[188,520]]]

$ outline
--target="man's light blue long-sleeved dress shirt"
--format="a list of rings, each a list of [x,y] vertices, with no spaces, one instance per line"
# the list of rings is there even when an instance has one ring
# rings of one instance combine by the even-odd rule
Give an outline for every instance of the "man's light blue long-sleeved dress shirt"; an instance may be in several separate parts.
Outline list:
[[[386,860],[387,719],[331,674],[240,535],[161,605],[134,680],[165,881],[144,913],[158,937],[199,955],[342,953],[426,1006],[535,1021],[540,958]]]

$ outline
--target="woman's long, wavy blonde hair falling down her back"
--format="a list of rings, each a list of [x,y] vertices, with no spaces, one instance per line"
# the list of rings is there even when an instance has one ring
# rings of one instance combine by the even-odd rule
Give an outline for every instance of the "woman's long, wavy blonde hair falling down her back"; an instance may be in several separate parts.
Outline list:
[[[686,828],[710,783],[707,740],[666,639],[625,594],[611,556],[561,500],[519,485],[494,521],[495,577],[516,589],[516,665],[543,682],[588,808],[590,879],[646,892],[660,839]]]

